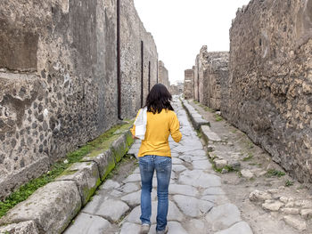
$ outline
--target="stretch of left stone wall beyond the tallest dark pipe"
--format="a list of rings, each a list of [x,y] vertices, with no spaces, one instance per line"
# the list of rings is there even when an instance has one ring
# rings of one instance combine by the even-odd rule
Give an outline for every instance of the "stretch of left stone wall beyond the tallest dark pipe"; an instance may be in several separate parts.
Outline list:
[[[133,117],[141,108],[141,100],[157,83],[158,54],[152,35],[146,32],[133,0],[121,4],[121,72],[122,117]],[[142,57],[143,46],[143,57]],[[144,68],[142,83],[142,62]],[[143,93],[142,88],[143,86]]]

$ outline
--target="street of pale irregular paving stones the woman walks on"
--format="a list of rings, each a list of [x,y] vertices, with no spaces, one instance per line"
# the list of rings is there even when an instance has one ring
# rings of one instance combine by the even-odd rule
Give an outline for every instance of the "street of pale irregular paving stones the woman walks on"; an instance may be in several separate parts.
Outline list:
[[[221,179],[212,169],[185,109],[177,99],[174,109],[183,139],[179,143],[169,140],[173,165],[169,185],[168,233],[252,233],[249,224],[242,221],[237,206],[229,203],[221,189]],[[139,147],[140,142],[135,141],[128,153],[136,154]],[[150,233],[155,233],[156,183],[154,177]],[[136,234],[141,226],[140,213],[140,173],[137,167],[122,183],[104,182],[98,194],[65,233]]]

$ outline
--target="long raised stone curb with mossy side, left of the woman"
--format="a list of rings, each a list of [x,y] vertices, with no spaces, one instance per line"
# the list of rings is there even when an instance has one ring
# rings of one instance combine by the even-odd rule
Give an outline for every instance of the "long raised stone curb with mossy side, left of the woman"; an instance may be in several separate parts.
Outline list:
[[[0,225],[10,225],[1,226],[0,233],[62,233],[132,143],[132,134],[127,130],[109,149],[71,165],[55,182],[39,188],[2,217]]]

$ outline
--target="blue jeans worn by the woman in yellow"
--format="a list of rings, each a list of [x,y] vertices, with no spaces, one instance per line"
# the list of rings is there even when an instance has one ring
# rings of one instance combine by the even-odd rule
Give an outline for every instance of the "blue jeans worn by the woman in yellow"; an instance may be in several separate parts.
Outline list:
[[[168,186],[171,175],[171,157],[145,155],[139,157],[139,167],[141,173],[141,222],[151,225],[152,215],[152,176],[154,170],[157,175],[157,226],[156,230],[165,230],[168,214]]]

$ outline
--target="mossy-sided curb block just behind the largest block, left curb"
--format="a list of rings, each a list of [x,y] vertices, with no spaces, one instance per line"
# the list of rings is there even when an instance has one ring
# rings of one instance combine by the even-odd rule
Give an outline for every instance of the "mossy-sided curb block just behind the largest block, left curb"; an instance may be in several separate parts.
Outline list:
[[[101,184],[98,167],[94,162],[75,163],[62,173],[56,181],[76,182],[83,206],[86,205],[96,188]]]

